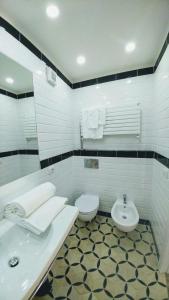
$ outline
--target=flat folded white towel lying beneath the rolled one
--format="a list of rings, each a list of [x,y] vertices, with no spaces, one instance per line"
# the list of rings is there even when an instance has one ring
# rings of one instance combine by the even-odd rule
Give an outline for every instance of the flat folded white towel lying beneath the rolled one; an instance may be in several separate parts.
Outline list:
[[[47,230],[55,217],[64,209],[67,200],[63,197],[52,197],[28,218],[21,218],[15,214],[8,214],[7,218],[39,235]]]

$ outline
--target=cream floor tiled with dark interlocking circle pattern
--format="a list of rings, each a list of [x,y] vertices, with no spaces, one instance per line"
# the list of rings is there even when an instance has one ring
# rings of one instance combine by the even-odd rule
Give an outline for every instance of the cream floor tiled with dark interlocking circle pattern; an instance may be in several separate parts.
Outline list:
[[[150,227],[120,232],[111,218],[76,221],[49,274],[51,292],[34,300],[167,300]]]

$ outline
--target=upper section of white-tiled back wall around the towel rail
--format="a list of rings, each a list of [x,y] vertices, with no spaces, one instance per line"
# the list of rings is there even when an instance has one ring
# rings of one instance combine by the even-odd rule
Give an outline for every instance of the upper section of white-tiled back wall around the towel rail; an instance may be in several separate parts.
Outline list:
[[[131,82],[131,83],[128,83]],[[106,106],[125,106],[140,103],[142,110],[141,141],[131,136],[109,136],[103,139],[84,142],[85,149],[104,150],[151,150],[152,149],[152,88],[153,75],[117,80],[73,91],[75,105],[75,145],[79,144],[80,112],[84,108]]]

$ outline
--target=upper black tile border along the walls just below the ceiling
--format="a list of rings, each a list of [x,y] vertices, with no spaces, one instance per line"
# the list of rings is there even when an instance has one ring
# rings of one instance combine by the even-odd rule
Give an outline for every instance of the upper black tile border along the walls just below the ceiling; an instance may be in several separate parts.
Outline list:
[[[5,28],[5,30],[8,33],[10,33],[14,38],[16,38],[19,42],[21,42],[24,46],[26,46],[32,53],[34,53],[39,59],[41,59],[49,67],[51,67],[57,73],[57,75],[72,89],[82,88],[82,87],[86,87],[86,86],[90,86],[90,85],[94,85],[94,84],[100,84],[100,83],[105,83],[105,82],[110,82],[110,81],[114,81],[114,80],[130,78],[130,77],[153,74],[156,71],[156,69],[165,53],[165,50],[169,44],[169,33],[168,33],[154,66],[150,66],[147,68],[141,68],[141,69],[137,69],[137,70],[121,72],[121,73],[117,73],[117,74],[106,75],[106,76],[93,78],[93,79],[89,79],[89,80],[84,80],[84,81],[80,81],[80,82],[76,82],[76,83],[71,83],[70,80],[68,78],[66,78],[66,76],[37,47],[35,47],[22,33],[20,33],[13,25],[11,25],[9,22],[7,22],[2,17],[0,17],[0,26]]]

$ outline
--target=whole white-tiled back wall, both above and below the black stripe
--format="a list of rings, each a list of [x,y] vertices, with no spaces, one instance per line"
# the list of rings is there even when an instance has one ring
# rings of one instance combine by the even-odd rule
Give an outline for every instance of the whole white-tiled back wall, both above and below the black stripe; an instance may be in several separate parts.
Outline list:
[[[125,106],[140,103],[142,111],[141,139],[135,136],[109,136],[101,140],[85,140],[85,149],[104,150],[151,150],[152,149],[152,102],[153,75],[119,80],[73,91],[75,148],[80,148],[80,113],[84,108]],[[151,159],[99,157],[99,170],[84,169],[84,157],[75,157],[74,186],[76,194],[99,194],[100,209],[109,211],[116,197],[127,193],[135,201],[141,218],[151,215]],[[77,188],[76,188],[77,187]]]

